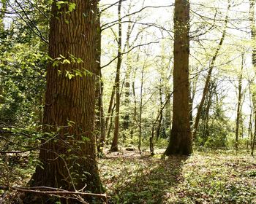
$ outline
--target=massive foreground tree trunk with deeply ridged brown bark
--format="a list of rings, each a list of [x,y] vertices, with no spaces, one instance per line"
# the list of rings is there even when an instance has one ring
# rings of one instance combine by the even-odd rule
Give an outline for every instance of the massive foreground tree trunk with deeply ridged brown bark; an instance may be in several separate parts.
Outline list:
[[[53,1],[40,164],[31,187],[102,192],[96,162],[94,96],[97,74],[97,0]],[[46,201],[47,200],[47,201]],[[64,198],[63,198],[64,200]],[[61,203],[78,203],[65,200]],[[24,203],[55,203],[27,195]]]

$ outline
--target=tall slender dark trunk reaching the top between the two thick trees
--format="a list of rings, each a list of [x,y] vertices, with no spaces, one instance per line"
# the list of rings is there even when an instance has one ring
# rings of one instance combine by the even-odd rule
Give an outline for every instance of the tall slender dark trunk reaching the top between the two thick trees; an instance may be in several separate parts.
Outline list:
[[[115,129],[113,141],[111,144],[111,152],[118,152],[118,135],[119,135],[119,111],[120,111],[120,69],[121,69],[121,3],[118,3],[118,54],[116,65],[116,115],[115,115]]]

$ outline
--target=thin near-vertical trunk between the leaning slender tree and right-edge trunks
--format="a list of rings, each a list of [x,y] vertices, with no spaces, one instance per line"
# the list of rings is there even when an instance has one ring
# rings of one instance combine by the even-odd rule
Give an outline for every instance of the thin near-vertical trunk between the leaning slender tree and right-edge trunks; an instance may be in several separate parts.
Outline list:
[[[238,80],[238,105],[237,105],[237,111],[236,111],[236,143],[235,143],[236,150],[238,150],[239,125],[240,125],[240,118],[241,118],[240,114],[241,114],[243,68],[244,68],[244,53],[242,53],[241,71],[240,71],[240,76]]]

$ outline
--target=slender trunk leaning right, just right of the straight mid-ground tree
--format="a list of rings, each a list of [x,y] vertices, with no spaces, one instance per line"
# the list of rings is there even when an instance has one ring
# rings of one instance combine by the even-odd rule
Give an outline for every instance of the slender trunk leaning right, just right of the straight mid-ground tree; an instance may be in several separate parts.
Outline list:
[[[197,127],[198,127],[198,124],[199,124],[199,120],[200,120],[200,114],[201,114],[201,111],[203,109],[203,103],[205,102],[206,100],[206,93],[208,93],[208,87],[209,87],[209,84],[210,84],[210,81],[211,81],[211,74],[212,74],[212,71],[214,69],[214,63],[217,59],[217,56],[219,55],[219,50],[221,49],[222,47],[222,44],[224,42],[224,39],[225,39],[225,36],[226,36],[226,31],[227,31],[227,18],[228,18],[228,12],[230,10],[230,2],[228,2],[228,7],[227,7],[227,15],[225,17],[225,26],[224,26],[224,29],[223,29],[223,32],[222,32],[222,37],[219,41],[219,44],[218,44],[218,47],[217,47],[217,50],[215,51],[214,53],[214,56],[213,58],[211,59],[211,65],[209,67],[209,71],[208,71],[208,75],[206,77],[206,84],[203,88],[203,95],[202,95],[202,99],[200,101],[200,104],[198,106],[198,109],[197,109],[197,115],[195,117],[195,122],[194,122],[194,130],[193,130],[193,134],[192,134],[192,137],[193,139],[195,139],[196,135],[197,135]]]

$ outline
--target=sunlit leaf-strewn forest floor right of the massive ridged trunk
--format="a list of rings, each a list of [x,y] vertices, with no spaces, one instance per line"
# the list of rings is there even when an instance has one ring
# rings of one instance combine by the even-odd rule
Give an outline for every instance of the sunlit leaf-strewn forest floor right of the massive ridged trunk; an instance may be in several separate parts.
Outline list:
[[[110,203],[256,203],[256,160],[246,152],[105,154],[99,170]]]

